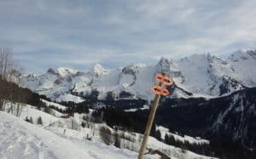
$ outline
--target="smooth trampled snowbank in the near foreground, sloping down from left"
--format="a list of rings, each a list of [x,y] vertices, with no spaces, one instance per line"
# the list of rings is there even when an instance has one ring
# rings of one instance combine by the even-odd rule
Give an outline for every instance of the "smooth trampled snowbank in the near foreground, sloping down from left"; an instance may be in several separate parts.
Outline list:
[[[31,123],[0,111],[0,158],[2,159],[125,159],[137,153],[99,142],[65,139]],[[145,156],[145,158],[159,158]]]

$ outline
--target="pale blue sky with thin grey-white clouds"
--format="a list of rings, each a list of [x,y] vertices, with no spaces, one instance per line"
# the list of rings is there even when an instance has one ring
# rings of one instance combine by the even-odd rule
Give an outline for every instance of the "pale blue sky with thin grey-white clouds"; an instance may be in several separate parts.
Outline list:
[[[1,0],[0,47],[26,71],[154,65],[255,49],[256,1]]]

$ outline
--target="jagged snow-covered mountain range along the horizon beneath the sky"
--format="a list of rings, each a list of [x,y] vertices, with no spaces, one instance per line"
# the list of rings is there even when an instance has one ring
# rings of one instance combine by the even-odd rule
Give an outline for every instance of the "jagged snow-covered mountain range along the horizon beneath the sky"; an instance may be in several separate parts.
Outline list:
[[[56,101],[83,101],[83,96],[97,91],[98,99],[111,92],[132,98],[152,99],[150,87],[154,75],[166,72],[173,77],[176,90],[170,98],[214,98],[242,88],[256,87],[256,50],[237,51],[226,60],[211,54],[195,54],[179,60],[161,58],[156,65],[132,64],[110,71],[100,64],[90,71],[68,68],[49,70],[43,75],[22,77],[24,87]]]

